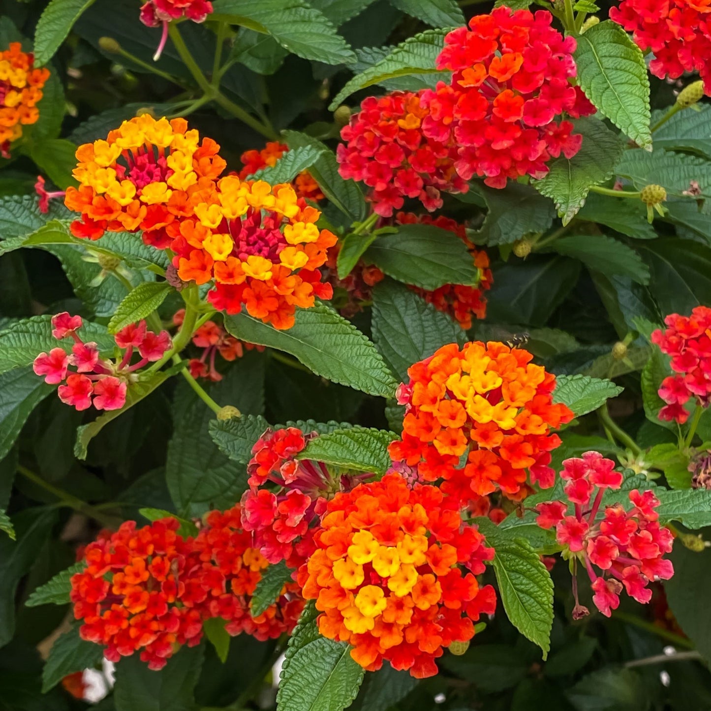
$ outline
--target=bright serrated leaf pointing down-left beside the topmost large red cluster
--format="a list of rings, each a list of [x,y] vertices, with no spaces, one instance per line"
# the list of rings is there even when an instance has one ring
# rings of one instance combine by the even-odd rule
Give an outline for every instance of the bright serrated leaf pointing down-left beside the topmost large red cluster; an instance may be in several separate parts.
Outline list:
[[[383,60],[348,81],[333,98],[328,110],[335,111],[353,92],[380,84],[386,79],[410,74],[439,73],[434,66],[434,60],[444,47],[444,36],[447,32],[446,29],[426,30],[408,37]]]

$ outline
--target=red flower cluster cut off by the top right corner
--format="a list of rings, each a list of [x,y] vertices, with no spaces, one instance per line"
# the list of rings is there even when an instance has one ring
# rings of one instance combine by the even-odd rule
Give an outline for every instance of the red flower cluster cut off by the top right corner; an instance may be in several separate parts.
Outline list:
[[[610,19],[632,32],[642,50],[652,50],[653,75],[677,79],[698,71],[711,95],[711,2],[709,0],[622,0]]]

